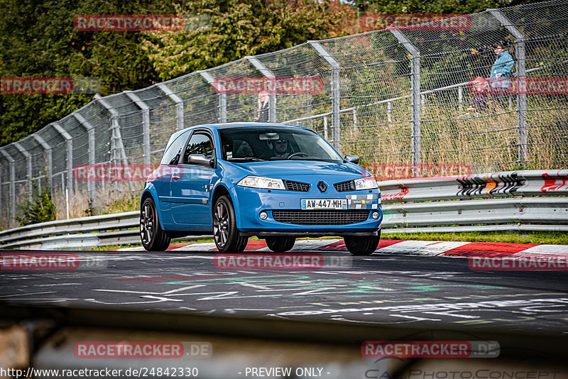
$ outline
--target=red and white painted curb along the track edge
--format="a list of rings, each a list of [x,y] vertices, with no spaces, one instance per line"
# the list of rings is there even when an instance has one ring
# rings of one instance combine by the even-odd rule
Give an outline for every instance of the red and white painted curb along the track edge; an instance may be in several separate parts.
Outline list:
[[[142,247],[121,248],[119,251],[143,251]],[[168,251],[217,251],[214,243],[172,245]],[[249,241],[245,251],[270,251],[265,241]],[[296,241],[292,251],[347,251],[342,239],[312,239]],[[530,243],[403,241],[382,239],[375,253],[412,256],[450,257],[568,257],[568,245],[535,245]]]

